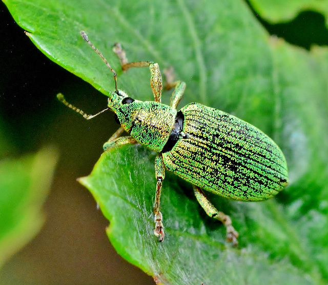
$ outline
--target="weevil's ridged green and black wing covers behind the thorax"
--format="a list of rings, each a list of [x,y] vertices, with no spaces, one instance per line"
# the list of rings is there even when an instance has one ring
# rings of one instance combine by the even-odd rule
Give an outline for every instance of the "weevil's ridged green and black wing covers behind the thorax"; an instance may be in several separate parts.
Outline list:
[[[268,199],[288,184],[281,150],[256,127],[197,103],[181,111],[188,138],[162,154],[169,170],[204,190],[244,201]]]

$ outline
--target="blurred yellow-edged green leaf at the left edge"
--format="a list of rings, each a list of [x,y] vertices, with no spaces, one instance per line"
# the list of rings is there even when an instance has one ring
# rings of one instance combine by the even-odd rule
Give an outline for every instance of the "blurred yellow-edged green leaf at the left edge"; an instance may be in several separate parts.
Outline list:
[[[56,161],[52,148],[0,160],[0,267],[43,226]]]

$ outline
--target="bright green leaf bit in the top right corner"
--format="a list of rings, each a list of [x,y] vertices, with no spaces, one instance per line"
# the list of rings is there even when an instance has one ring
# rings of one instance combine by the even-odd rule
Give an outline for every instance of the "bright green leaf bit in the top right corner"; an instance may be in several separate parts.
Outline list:
[[[249,0],[255,11],[267,21],[287,22],[301,11],[311,10],[328,15],[328,2],[317,0]],[[301,32],[301,31],[300,31]]]

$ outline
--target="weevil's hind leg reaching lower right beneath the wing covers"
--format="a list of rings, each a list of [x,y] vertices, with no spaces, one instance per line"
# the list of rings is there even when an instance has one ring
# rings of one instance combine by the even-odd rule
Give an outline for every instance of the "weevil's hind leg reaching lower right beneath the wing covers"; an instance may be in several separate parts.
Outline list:
[[[197,186],[193,185],[195,196],[200,203],[200,206],[205,210],[205,212],[212,218],[218,219],[223,223],[223,225],[227,229],[227,241],[232,241],[234,247],[238,246],[237,237],[239,236],[238,232],[234,229],[231,224],[231,218],[224,214],[223,212],[219,212],[213,206],[211,201],[206,197],[204,192]]]

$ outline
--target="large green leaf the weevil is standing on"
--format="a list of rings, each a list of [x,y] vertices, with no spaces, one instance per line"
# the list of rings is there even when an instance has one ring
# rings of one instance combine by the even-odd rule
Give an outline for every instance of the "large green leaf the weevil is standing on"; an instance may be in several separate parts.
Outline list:
[[[155,154],[142,146],[105,152],[80,181],[111,221],[119,254],[171,284],[325,284],[328,281],[328,99],[326,48],[311,52],[269,37],[242,1],[6,0],[15,20],[52,60],[105,94],[118,87],[152,99],[147,69],[120,72],[111,47],[130,61],[172,65],[191,101],[230,112],[269,134],[288,161],[290,186],[265,202],[209,195],[240,233],[231,249],[220,223],[208,218],[187,182],[167,174],[161,212],[166,238],[153,236]],[[163,94],[165,101],[170,93]],[[315,258],[314,258],[315,257]]]

